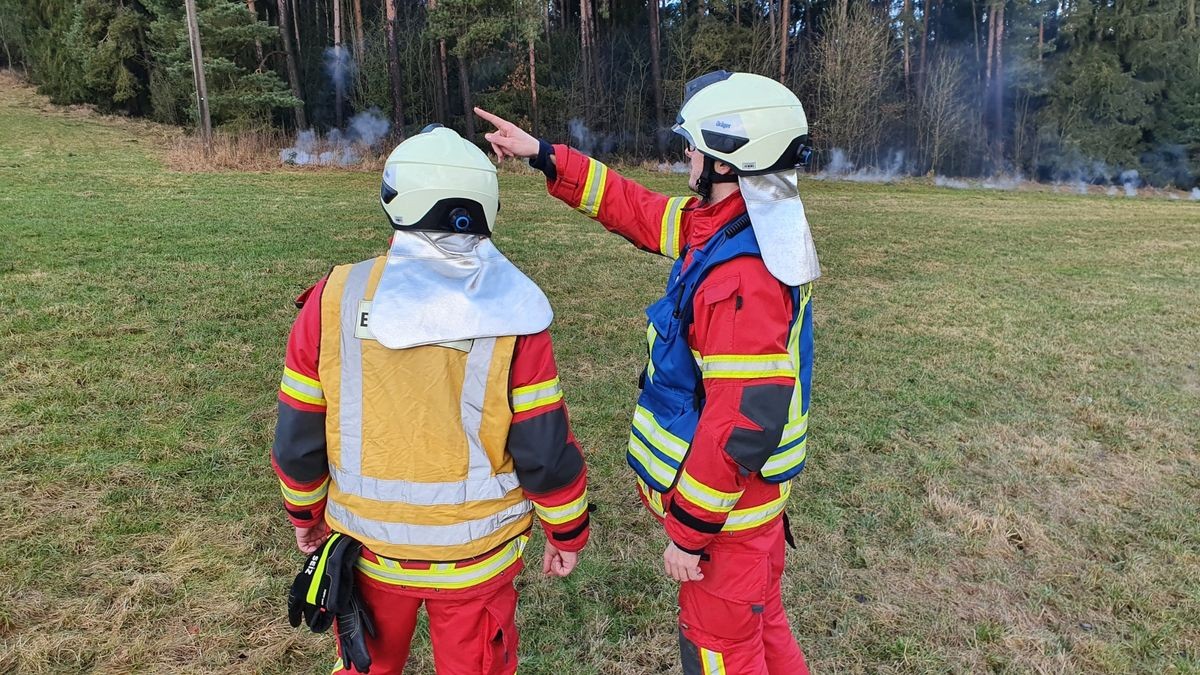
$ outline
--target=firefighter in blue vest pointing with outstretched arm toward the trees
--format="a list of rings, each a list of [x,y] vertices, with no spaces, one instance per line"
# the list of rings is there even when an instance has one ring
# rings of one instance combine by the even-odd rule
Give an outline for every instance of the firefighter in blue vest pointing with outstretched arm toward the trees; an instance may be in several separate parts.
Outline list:
[[[808,121],[784,85],[690,82],[673,131],[697,197],[666,197],[476,108],[499,157],[638,249],[673,258],[647,310],[649,359],[626,459],[670,542],[685,675],[808,673],[781,599],[784,508],[804,467],[820,275],[797,187]]]

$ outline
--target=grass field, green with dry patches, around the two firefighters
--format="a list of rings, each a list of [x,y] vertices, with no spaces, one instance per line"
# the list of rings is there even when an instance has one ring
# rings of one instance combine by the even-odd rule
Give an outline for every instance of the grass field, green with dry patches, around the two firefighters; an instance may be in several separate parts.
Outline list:
[[[176,173],[170,137],[0,73],[4,671],[332,662],[287,625],[268,448],[292,299],[383,250],[378,178]],[[814,671],[1200,673],[1200,203],[804,187],[824,277],[785,599]],[[522,673],[677,673],[623,461],[667,263],[532,175],[502,190],[600,507],[575,575],[521,578]]]

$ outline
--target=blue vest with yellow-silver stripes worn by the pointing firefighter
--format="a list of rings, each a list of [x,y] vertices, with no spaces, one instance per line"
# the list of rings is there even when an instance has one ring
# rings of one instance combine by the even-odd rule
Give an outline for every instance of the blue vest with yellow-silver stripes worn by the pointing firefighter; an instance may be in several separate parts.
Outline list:
[[[692,297],[713,268],[740,256],[762,257],[746,215],[714,234],[692,255],[688,269],[683,269],[686,251],[680,253],[671,269],[666,295],[646,310],[649,363],[634,411],[625,459],[642,480],[659,492],[668,491],[678,480],[679,466],[691,447],[704,408],[702,362],[688,345]],[[787,366],[788,371],[794,370],[796,389],[779,447],[760,471],[770,483],[785,483],[804,470],[812,382],[811,291],[811,283],[791,287],[793,313],[788,324]]]

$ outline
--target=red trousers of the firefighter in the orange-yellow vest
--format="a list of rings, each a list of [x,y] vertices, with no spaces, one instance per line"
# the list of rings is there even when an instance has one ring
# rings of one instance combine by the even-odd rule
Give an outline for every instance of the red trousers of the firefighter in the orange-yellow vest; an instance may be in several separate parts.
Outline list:
[[[371,675],[404,671],[416,628],[416,610],[430,615],[430,639],[438,675],[512,675],[517,670],[517,590],[512,579],[520,565],[473,589],[455,591],[392,586],[362,573],[355,584],[374,620],[376,637],[367,637]],[[342,661],[338,658],[337,664]],[[335,669],[334,674],[358,673]]]

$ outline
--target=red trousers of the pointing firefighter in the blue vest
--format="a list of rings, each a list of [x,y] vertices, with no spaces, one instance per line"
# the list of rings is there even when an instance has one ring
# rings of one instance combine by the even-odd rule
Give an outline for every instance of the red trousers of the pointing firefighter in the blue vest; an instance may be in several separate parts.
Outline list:
[[[784,522],[718,537],[701,560],[704,578],[679,586],[684,675],[808,675],[784,611]]]

